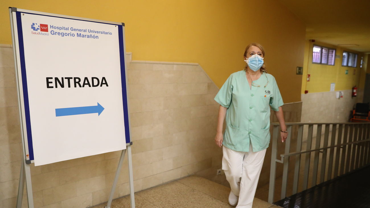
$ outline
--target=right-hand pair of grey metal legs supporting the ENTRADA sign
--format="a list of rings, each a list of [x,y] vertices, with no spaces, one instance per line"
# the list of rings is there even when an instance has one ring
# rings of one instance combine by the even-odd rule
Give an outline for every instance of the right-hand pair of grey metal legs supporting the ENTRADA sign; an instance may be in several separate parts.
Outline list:
[[[127,150],[127,157],[128,157],[127,158],[128,159],[128,177],[129,177],[129,183],[130,183],[131,208],[135,208],[134,177],[133,177],[133,174],[132,174],[132,155],[131,155],[132,142],[127,143],[126,145],[127,145],[126,150]],[[121,152],[120,161],[118,162],[116,175],[114,177],[114,182],[113,182],[112,189],[111,189],[111,194],[109,196],[108,203],[107,203],[107,206],[105,206],[105,208],[111,208],[114,191],[115,191],[115,188],[116,188],[116,185],[117,185],[118,176],[120,175],[120,170],[121,170],[121,167],[122,167],[123,159],[125,158],[126,150],[122,150],[122,152]]]

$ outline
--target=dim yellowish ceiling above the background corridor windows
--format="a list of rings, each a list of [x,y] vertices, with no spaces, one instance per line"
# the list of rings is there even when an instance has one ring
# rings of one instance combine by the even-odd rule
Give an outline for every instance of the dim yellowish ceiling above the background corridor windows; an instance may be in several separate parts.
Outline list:
[[[306,24],[306,39],[370,53],[370,0],[279,0]]]

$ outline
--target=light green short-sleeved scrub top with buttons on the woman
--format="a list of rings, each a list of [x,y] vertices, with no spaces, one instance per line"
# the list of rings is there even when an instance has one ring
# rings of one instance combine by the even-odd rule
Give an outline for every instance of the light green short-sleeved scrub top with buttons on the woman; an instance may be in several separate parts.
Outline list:
[[[260,87],[249,88],[246,71],[232,73],[222,85],[215,101],[226,110],[226,130],[222,144],[225,147],[248,152],[252,142],[253,152],[269,147],[270,143],[270,108],[279,111],[283,98],[277,87],[275,77],[261,74],[253,81]],[[263,72],[265,73],[265,72]],[[267,81],[268,85],[265,87]]]

